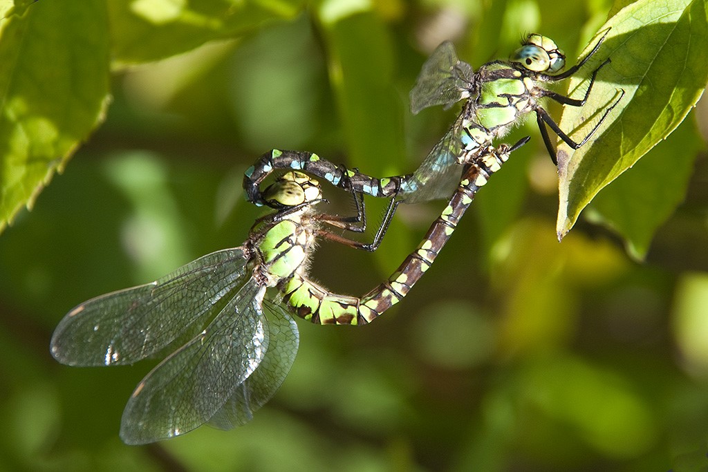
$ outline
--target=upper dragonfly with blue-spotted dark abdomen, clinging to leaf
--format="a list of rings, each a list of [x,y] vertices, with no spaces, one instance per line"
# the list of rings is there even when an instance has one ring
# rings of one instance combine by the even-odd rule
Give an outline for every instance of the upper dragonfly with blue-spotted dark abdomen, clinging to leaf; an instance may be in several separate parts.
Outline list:
[[[586,57],[564,72],[561,72],[566,64],[564,52],[553,40],[537,33],[528,35],[508,61],[488,62],[476,72],[467,62],[458,59],[452,42],[442,42],[423,64],[411,90],[411,112],[416,114],[433,105],[442,105],[447,109],[459,100],[465,102],[455,122],[415,172],[375,178],[357,169],[333,164],[310,152],[273,149],[263,154],[246,171],[246,198],[256,205],[263,205],[259,185],[275,169],[282,168],[305,171],[332,185],[352,188],[366,195],[392,198],[374,241],[363,246],[368,251],[374,251],[382,241],[399,203],[447,198],[459,183],[467,163],[465,160],[485,152],[494,139],[504,137],[529,113],[535,113],[544,144],[554,163],[557,163],[556,151],[547,126],[573,149],[586,144],[617,106],[624,91],[619,91],[619,97],[605,108],[594,127],[578,142],[560,129],[539,100],[550,98],[564,105],[585,105],[598,72],[610,63],[609,58],[593,70],[585,96],[581,99],[550,91],[544,88],[544,84],[568,79],[575,74],[598,52],[608,32],[600,37]]]

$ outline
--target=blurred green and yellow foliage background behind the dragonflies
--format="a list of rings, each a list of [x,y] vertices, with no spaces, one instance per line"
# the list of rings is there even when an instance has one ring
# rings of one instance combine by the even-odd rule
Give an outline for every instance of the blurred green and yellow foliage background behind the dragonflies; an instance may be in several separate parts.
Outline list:
[[[122,408],[152,364],[76,369],[48,350],[79,302],[239,246],[262,214],[241,178],[263,151],[413,171],[455,117],[407,111],[441,40],[473,67],[529,31],[572,58],[611,6],[331,0],[117,68],[105,123],[0,236],[0,470],[708,470],[704,151],[640,262],[588,222],[593,209],[558,243],[555,169],[535,123],[517,129],[508,142],[531,134],[531,144],[480,192],[411,294],[362,328],[300,320],[290,376],[230,432],[127,447]],[[704,149],[707,123],[703,100],[653,159],[670,163],[672,140]],[[325,192],[348,209],[343,192]],[[367,203],[373,225],[384,202]],[[443,205],[402,208],[375,255],[322,243],[313,277],[364,294]]]

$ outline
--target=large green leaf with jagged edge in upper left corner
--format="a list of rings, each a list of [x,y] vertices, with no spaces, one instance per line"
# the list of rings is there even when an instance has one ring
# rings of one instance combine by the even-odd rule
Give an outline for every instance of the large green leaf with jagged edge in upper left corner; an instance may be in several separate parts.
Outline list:
[[[0,231],[103,119],[105,1],[42,1],[0,23]]]

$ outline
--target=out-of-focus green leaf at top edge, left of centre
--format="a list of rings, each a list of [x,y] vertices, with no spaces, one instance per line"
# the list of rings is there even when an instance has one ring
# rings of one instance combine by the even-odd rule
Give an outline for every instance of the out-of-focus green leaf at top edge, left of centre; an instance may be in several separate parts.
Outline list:
[[[164,59],[207,41],[292,18],[304,0],[108,0],[113,56],[119,64]]]

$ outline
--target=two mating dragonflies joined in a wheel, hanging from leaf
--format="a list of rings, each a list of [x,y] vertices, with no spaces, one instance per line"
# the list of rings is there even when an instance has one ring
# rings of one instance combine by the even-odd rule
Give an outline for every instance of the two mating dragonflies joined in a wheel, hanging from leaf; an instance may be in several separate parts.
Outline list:
[[[509,61],[489,62],[476,73],[457,59],[450,42],[442,43],[423,65],[411,91],[411,110],[467,101],[417,171],[379,179],[315,154],[264,154],[246,171],[244,188],[251,202],[275,212],[256,221],[242,246],[205,255],[152,283],[79,304],[57,326],[52,355],[63,364],[108,366],[170,353],[130,396],[120,430],[127,444],[178,436],[205,423],[222,429],[243,425],[274,395],[292,366],[299,341],[292,315],[314,323],[360,325],[406,296],[452,236],[477,190],[529,137],[512,146],[495,146],[494,139],[533,111],[552,159],[555,151],[546,125],[571,147],[587,142],[621,93],[580,142],[556,125],[538,99],[583,106],[596,74],[610,59],[593,71],[581,100],[542,84],[574,74],[603,40],[563,73],[564,53],[541,35],[529,35]],[[260,184],[278,168],[290,171],[261,191]],[[321,188],[302,171],[351,192],[357,215],[316,212],[316,204],[324,200]],[[364,231],[364,194],[391,199],[374,241],[367,244],[329,229]],[[368,294],[333,294],[308,280],[316,238],[374,250],[399,203],[442,197],[450,200],[421,244]]]

